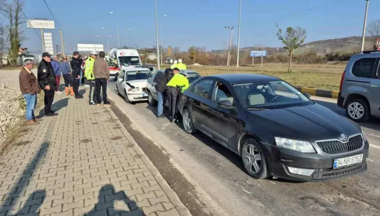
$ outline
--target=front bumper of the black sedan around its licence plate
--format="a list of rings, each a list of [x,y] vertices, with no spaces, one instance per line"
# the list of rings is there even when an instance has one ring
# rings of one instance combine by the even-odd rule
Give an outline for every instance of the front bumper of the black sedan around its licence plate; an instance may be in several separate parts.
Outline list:
[[[330,156],[319,151],[318,153],[308,154],[272,146],[272,155],[268,157],[268,162],[271,174],[274,177],[296,181],[325,182],[365,172],[367,170],[366,159],[368,157],[368,149],[369,143],[367,141],[361,150]],[[363,154],[362,163],[333,169],[335,158],[348,157],[357,154]],[[291,173],[288,167],[314,169],[314,172],[310,176],[297,175]]]

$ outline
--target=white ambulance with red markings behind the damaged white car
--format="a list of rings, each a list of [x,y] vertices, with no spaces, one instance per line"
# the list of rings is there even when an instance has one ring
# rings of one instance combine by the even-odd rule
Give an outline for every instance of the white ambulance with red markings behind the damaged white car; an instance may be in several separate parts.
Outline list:
[[[136,49],[112,48],[105,60],[108,62],[110,77],[115,79],[123,69],[141,66],[140,55]]]

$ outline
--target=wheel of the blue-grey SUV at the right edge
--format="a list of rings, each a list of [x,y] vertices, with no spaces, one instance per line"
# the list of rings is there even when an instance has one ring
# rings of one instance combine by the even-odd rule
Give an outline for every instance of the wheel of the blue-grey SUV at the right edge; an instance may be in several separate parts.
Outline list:
[[[346,106],[346,114],[353,121],[367,121],[369,118],[368,105],[362,99],[353,99]]]

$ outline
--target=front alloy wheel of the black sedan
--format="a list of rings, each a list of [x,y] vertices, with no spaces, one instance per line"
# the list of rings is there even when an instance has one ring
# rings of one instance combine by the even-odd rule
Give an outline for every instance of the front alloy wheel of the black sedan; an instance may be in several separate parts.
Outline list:
[[[244,148],[244,163],[252,173],[259,173],[262,166],[261,154],[259,150],[252,144],[248,144]]]

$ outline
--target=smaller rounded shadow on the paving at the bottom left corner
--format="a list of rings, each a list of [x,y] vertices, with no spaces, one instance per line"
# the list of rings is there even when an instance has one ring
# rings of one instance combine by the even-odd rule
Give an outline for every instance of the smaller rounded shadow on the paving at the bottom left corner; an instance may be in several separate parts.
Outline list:
[[[32,194],[29,195],[24,207],[18,210],[15,215],[28,214],[29,216],[38,216],[39,208],[44,203],[45,196],[45,190],[34,191]]]

